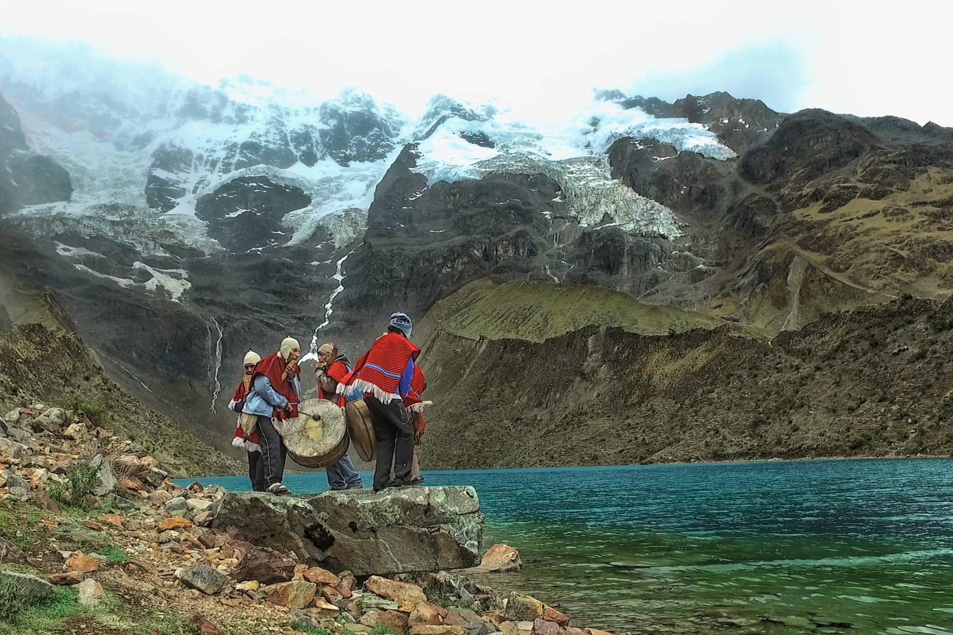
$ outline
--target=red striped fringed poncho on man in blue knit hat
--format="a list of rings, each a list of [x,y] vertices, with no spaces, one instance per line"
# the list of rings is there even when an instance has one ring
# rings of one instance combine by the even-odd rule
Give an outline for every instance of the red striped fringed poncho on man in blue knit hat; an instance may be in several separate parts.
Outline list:
[[[388,331],[378,337],[371,349],[357,360],[355,369],[344,382],[337,385],[337,391],[345,393],[348,388],[363,390],[364,394],[374,395],[383,404],[401,399],[399,392],[400,376],[407,363],[420,354],[420,349],[399,333]]]

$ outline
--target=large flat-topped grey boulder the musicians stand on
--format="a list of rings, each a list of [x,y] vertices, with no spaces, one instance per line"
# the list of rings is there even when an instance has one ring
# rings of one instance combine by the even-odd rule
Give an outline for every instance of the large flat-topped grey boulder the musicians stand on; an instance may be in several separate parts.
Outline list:
[[[474,566],[483,514],[473,487],[348,489],[313,497],[227,493],[213,527],[234,526],[258,546],[357,576]]]

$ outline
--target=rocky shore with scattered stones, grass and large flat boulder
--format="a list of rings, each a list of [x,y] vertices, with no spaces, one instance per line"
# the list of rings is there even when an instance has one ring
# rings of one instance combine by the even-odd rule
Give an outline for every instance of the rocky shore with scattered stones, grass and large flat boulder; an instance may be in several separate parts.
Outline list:
[[[483,553],[473,488],[182,488],[82,412],[31,404],[2,422],[6,632],[604,635],[468,577],[521,566],[511,547]]]

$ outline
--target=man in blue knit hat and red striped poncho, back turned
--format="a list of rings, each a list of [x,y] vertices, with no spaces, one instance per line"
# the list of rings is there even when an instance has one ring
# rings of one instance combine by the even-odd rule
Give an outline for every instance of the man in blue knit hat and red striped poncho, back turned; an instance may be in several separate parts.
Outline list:
[[[377,438],[374,489],[409,486],[421,482],[411,475],[414,427],[403,398],[411,390],[415,360],[420,349],[411,344],[413,324],[406,313],[393,313],[387,332],[357,361],[355,369],[338,384],[337,392],[353,388],[364,392]],[[394,478],[391,478],[391,465]]]

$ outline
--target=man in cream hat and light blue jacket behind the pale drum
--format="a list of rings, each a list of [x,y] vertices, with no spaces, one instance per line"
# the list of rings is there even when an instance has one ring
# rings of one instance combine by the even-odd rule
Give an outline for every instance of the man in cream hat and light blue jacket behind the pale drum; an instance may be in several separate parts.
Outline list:
[[[247,435],[258,433],[265,491],[290,494],[281,481],[288,450],[278,429],[282,422],[298,415],[301,394],[301,367],[297,360],[301,347],[294,337],[286,337],[281,349],[258,362],[252,371],[252,389],[239,420]]]

